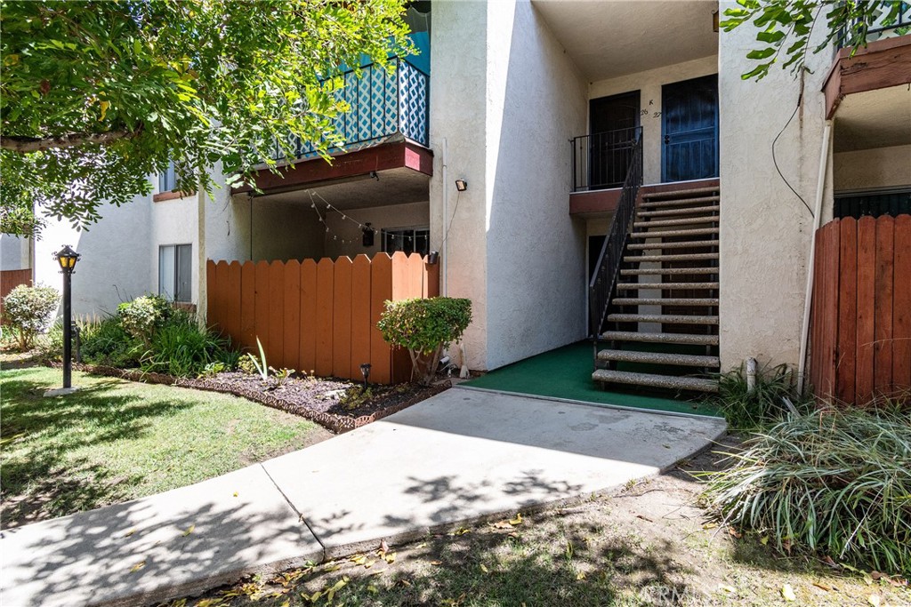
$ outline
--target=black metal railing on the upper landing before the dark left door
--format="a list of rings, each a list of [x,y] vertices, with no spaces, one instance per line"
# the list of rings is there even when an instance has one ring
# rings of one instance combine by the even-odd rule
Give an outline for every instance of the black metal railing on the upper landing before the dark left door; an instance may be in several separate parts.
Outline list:
[[[641,138],[642,127],[630,126],[570,139],[573,191],[621,187],[630,170],[633,147]]]

